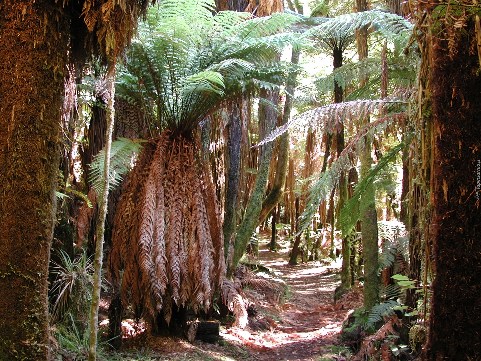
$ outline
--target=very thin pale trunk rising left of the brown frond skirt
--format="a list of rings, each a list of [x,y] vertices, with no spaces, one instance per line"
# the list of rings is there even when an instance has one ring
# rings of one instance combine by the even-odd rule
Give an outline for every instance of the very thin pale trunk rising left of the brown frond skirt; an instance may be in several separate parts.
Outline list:
[[[110,170],[110,148],[112,146],[112,134],[114,132],[114,102],[115,102],[115,65],[112,74],[107,76],[107,129],[105,132],[105,164],[102,175],[103,193],[99,198],[99,221],[97,223],[97,237],[94,258],[94,281],[92,293],[92,306],[90,310],[90,349],[89,361],[97,358],[97,334],[99,331],[99,302],[102,286],[102,257],[103,257],[103,235],[105,230],[105,219],[107,216],[107,200],[109,196],[109,170]]]

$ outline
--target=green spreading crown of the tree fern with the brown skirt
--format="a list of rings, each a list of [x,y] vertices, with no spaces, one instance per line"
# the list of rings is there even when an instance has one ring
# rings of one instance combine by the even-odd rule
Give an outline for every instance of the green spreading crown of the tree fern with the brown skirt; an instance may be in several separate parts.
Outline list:
[[[146,109],[157,133],[189,133],[223,98],[254,84],[256,69],[298,38],[278,34],[296,20],[290,14],[213,15],[214,7],[212,0],[162,1],[139,25],[118,90]],[[261,80],[276,84],[279,74]]]

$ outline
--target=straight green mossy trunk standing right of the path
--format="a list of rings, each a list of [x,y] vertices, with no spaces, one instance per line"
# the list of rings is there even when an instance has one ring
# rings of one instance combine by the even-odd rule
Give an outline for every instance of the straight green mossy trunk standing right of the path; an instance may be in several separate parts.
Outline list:
[[[361,157],[361,177],[366,177],[371,168],[371,147],[367,145],[366,153]],[[366,187],[361,195],[361,231],[362,250],[364,263],[364,304],[363,307],[369,311],[379,303],[379,282],[378,282],[378,215],[374,197],[374,186],[372,182]]]

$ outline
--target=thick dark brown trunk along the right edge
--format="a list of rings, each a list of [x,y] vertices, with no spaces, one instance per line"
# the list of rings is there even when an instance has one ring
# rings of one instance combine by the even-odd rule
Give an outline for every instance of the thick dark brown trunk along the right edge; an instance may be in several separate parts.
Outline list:
[[[481,79],[470,46],[460,40],[452,58],[444,51],[447,41],[435,40],[432,47],[436,278],[429,360],[480,359],[481,95],[474,90]]]

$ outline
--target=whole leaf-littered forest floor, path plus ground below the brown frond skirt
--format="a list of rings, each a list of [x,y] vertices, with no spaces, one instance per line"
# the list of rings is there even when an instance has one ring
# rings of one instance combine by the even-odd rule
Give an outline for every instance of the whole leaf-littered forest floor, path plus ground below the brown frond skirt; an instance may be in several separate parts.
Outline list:
[[[269,251],[269,235],[259,234],[259,257],[249,256],[235,277],[245,283],[249,324],[233,327],[221,322],[223,340],[210,344],[195,340],[160,337],[144,332],[143,323],[123,320],[123,350],[104,353],[108,361],[327,361],[349,360],[350,348],[339,340],[342,323],[362,306],[362,288],[354,287],[337,302],[334,293],[341,282],[337,262],[314,261],[289,265],[289,242]],[[257,266],[255,266],[257,265]],[[338,267],[338,268],[336,268]],[[251,271],[251,269],[254,271]],[[246,281],[248,280],[248,281]],[[253,281],[254,280],[254,281]],[[101,310],[109,297],[103,295]],[[105,313],[105,312],[104,312]],[[101,325],[108,324],[105,319]],[[72,355],[73,356],[73,355]],[[79,360],[64,354],[62,360]]]

